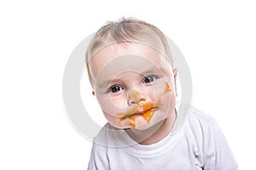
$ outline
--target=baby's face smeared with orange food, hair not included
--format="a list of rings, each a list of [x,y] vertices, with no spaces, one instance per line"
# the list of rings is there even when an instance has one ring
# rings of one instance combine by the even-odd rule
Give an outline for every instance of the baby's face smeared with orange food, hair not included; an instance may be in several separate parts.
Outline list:
[[[90,70],[96,98],[114,127],[147,129],[175,109],[172,66],[154,48],[109,45],[90,60]]]

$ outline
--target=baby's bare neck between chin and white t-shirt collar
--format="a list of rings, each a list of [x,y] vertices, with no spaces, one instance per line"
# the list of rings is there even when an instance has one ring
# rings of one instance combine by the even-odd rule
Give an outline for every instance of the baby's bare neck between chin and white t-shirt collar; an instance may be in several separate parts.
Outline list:
[[[129,136],[137,141],[139,144],[149,145],[159,142],[161,139],[166,138],[166,136],[171,132],[173,124],[176,120],[177,112],[176,109],[172,111],[170,116],[167,116],[161,122],[158,122],[153,127],[150,127],[146,130],[137,130],[137,129],[127,129],[126,132]]]

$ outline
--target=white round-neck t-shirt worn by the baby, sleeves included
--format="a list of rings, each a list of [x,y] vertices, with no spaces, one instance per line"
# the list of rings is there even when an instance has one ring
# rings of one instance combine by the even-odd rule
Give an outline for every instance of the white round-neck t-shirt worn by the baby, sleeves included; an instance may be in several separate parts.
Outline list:
[[[88,170],[236,170],[230,148],[211,116],[193,107],[177,112],[172,132],[156,144],[137,144],[106,124],[94,139]]]

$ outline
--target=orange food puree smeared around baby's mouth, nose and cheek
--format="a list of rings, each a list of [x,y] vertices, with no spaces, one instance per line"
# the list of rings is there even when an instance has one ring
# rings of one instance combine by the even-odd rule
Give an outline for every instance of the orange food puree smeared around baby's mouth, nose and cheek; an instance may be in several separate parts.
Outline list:
[[[123,117],[119,118],[120,124],[125,124],[124,122],[127,121],[127,119],[129,119],[129,123],[128,123],[129,126],[136,127],[135,121],[136,121],[137,116],[143,116],[143,119],[146,122],[150,122],[152,116],[154,115],[154,111],[158,110],[158,107],[156,107],[156,106],[157,105],[163,105],[161,103],[161,97],[164,94],[167,94],[167,93],[170,93],[170,92],[172,92],[172,89],[170,87],[170,84],[168,82],[166,82],[165,91],[158,96],[158,100],[157,100],[156,105],[154,105],[154,103],[152,103],[152,102],[139,103],[138,105],[135,105],[134,107],[132,107],[128,111],[119,112],[118,116],[123,116]],[[139,95],[140,94],[135,92],[134,94],[131,94],[131,98],[134,98],[135,100],[137,100],[137,99],[139,99]],[[140,107],[143,108],[143,112],[138,113],[138,110],[139,110]]]

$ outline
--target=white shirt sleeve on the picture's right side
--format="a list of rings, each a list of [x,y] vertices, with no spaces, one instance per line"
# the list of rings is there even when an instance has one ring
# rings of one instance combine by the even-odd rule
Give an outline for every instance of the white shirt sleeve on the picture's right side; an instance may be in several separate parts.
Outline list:
[[[237,170],[236,160],[217,122],[209,122],[208,129],[203,154],[204,170]]]

